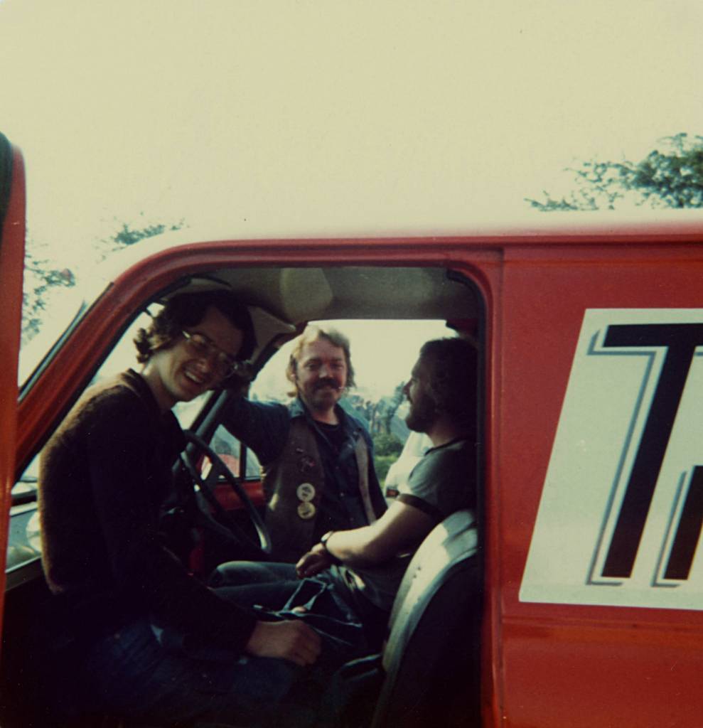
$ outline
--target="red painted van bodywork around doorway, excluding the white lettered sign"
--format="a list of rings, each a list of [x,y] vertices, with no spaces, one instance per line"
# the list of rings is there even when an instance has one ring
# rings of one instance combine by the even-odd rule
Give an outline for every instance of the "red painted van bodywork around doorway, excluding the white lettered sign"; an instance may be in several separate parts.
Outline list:
[[[230,264],[455,269],[477,283],[486,312],[485,727],[695,727],[703,612],[523,604],[518,590],[584,311],[703,308],[702,242],[703,226],[686,223],[167,250],[116,279],[25,397],[18,453],[36,451],[135,306],[181,274]]]

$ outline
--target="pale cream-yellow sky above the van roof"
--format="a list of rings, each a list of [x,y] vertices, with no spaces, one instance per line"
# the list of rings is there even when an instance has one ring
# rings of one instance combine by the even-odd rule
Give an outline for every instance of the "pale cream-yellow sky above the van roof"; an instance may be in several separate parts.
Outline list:
[[[121,223],[510,222],[703,133],[700,0],[0,0],[0,130],[61,267]]]

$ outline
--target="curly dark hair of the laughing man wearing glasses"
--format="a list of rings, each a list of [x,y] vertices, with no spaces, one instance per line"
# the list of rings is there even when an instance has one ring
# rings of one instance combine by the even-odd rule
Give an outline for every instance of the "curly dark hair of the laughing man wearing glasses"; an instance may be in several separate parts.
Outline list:
[[[135,336],[137,361],[145,363],[154,352],[169,348],[184,328],[199,324],[210,306],[223,314],[242,332],[242,346],[237,360],[251,357],[256,348],[254,326],[247,306],[227,290],[206,290],[200,293],[180,293],[170,298],[151,320],[148,328],[140,328]]]

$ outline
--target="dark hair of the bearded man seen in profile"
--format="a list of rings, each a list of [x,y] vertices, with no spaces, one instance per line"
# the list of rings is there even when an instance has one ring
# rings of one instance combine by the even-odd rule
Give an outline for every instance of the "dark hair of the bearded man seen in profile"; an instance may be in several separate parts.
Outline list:
[[[474,427],[477,413],[478,350],[466,339],[432,339],[420,349],[428,367],[427,393],[438,411]]]

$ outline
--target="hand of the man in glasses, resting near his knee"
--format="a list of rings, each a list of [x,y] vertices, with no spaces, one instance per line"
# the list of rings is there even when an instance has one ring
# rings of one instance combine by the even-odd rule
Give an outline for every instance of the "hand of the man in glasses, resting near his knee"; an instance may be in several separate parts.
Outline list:
[[[245,651],[255,657],[279,657],[296,665],[312,665],[322,644],[319,634],[304,622],[256,622]]]

